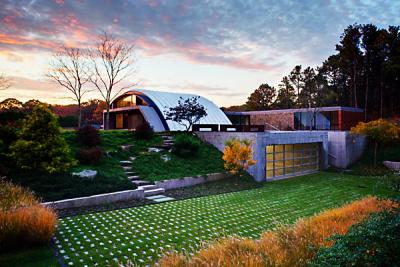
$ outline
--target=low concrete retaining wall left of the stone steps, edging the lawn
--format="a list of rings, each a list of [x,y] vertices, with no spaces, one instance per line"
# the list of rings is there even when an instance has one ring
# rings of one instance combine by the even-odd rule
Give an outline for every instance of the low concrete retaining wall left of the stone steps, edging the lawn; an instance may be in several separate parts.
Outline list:
[[[107,194],[99,194],[89,197],[79,197],[71,199],[63,199],[53,202],[44,202],[42,205],[48,206],[54,209],[69,209],[69,208],[79,208],[86,206],[96,206],[108,203],[114,203],[118,201],[129,201],[132,199],[143,199],[144,190],[125,190]]]

